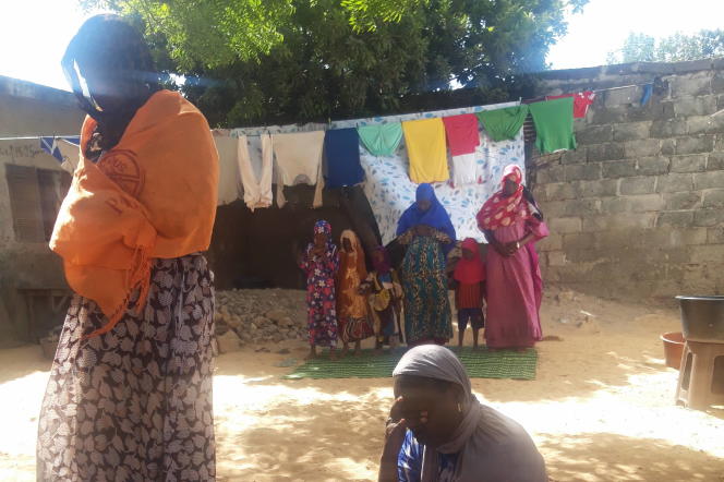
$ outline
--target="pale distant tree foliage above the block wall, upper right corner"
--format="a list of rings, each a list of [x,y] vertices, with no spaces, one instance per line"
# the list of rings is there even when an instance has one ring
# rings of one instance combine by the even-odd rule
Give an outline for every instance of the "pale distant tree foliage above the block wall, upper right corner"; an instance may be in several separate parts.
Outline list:
[[[629,34],[619,50],[608,53],[608,63],[679,62],[724,57],[724,31],[701,31],[693,35],[676,33],[656,39],[645,34]]]

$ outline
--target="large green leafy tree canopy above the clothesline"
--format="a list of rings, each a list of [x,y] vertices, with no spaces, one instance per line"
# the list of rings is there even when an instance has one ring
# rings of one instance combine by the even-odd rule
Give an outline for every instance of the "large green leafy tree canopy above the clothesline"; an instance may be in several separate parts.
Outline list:
[[[215,125],[508,99],[587,1],[85,0],[143,25]]]

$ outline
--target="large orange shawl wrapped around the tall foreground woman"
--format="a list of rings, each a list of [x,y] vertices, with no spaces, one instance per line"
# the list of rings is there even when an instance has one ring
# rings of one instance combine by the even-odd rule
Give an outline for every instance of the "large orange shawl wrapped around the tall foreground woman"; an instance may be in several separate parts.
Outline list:
[[[86,118],[81,146],[95,126]],[[94,336],[112,329],[128,309],[143,309],[152,258],[208,249],[218,155],[204,116],[170,91],[154,94],[97,164],[81,152],[50,249],[63,258],[73,291],[108,317]],[[130,305],[135,290],[138,299]]]

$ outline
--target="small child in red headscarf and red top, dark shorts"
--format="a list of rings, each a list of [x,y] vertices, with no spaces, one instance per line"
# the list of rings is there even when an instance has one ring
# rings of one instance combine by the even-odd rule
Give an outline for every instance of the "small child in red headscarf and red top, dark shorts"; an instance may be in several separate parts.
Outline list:
[[[485,265],[480,257],[478,242],[468,238],[462,241],[462,257],[452,275],[455,279],[455,304],[458,310],[458,347],[462,347],[468,323],[472,326],[473,348],[478,348],[480,329],[485,326],[483,293],[485,289]]]

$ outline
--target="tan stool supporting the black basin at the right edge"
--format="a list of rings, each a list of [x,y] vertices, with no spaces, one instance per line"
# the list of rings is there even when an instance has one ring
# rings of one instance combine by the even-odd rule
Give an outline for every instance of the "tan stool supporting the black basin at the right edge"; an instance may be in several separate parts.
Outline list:
[[[686,342],[676,403],[696,410],[724,405],[724,344]]]

